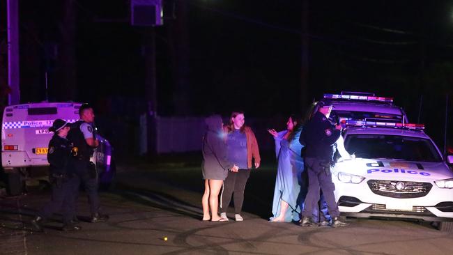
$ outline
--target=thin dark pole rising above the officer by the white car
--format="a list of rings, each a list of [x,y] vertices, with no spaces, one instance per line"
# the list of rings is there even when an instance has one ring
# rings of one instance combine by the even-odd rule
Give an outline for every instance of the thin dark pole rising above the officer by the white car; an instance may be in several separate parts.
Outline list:
[[[302,0],[302,68],[300,70],[300,107],[308,106],[309,94],[309,31],[308,31],[309,0]]]

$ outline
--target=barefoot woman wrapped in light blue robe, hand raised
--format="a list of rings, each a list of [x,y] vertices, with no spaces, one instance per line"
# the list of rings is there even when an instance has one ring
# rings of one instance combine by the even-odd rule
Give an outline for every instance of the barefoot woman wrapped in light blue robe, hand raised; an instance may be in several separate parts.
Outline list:
[[[272,203],[272,222],[298,222],[302,203],[305,200],[307,185],[302,181],[304,161],[300,156],[302,144],[299,142],[302,125],[297,125],[297,118],[290,116],[286,130],[276,132],[268,130],[275,138],[275,153],[278,167],[275,180],[274,200]],[[302,187],[302,192],[301,192]]]

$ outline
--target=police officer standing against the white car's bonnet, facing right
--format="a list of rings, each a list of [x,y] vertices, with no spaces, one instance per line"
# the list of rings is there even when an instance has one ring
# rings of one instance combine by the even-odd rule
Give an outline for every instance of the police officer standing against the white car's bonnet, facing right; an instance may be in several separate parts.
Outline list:
[[[335,202],[335,185],[332,183],[330,166],[333,162],[333,146],[341,135],[341,126],[332,125],[328,120],[332,102],[323,99],[315,107],[314,115],[307,122],[300,135],[300,143],[305,144],[305,167],[308,173],[308,193],[302,212],[302,226],[315,226],[312,221],[313,208],[318,205],[320,189],[323,192],[332,226],[345,226],[339,220],[339,210]]]

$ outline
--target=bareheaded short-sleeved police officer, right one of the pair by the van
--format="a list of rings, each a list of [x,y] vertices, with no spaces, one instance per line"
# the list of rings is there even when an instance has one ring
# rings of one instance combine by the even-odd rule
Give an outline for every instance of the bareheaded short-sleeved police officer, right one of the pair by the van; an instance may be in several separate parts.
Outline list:
[[[79,116],[81,120],[72,125],[68,134],[68,139],[74,146],[74,157],[72,161],[75,172],[84,184],[86,194],[89,198],[91,211],[90,222],[105,222],[108,219],[107,215],[101,215],[99,212],[98,173],[95,169],[95,165],[90,161],[90,157],[93,157],[94,149],[99,146],[93,124],[93,108],[88,104],[82,105],[79,108]],[[77,196],[78,189],[75,195],[76,200]]]

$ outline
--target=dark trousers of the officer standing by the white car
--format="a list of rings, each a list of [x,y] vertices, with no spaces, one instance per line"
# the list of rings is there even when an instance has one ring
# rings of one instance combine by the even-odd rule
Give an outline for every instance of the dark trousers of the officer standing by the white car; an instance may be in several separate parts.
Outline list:
[[[332,183],[332,176],[330,169],[321,166],[323,160],[318,160],[313,157],[305,158],[305,167],[308,173],[308,193],[305,198],[305,208],[302,215],[304,217],[311,217],[313,209],[318,207],[319,193],[323,191],[325,202],[328,206],[328,211],[331,217],[338,217],[339,210],[335,202],[335,185]]]

